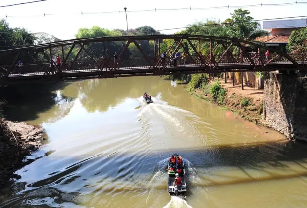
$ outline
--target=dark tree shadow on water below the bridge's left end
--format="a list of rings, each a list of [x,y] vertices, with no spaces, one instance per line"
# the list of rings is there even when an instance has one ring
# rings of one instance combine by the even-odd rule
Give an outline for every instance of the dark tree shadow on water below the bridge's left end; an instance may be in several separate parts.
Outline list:
[[[57,90],[63,90],[70,83],[42,81],[0,88],[0,98],[7,102],[3,108],[5,118],[19,122],[35,120],[59,100],[72,101],[72,97],[57,94]]]

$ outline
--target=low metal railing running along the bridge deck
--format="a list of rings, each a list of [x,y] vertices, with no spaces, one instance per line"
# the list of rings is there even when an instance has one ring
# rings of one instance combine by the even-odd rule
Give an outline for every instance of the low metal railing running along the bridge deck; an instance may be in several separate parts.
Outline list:
[[[297,63],[307,63],[306,53],[289,54]],[[254,64],[253,64],[253,63]],[[112,70],[133,70],[133,69],[150,69],[156,70],[170,67],[171,59],[169,57],[162,60],[158,57],[139,57],[139,58],[126,58],[118,59],[115,61],[113,58],[101,58],[96,60],[77,60],[67,61],[58,64],[51,63],[25,63],[22,66],[4,65],[0,67],[0,76],[25,76],[27,75],[52,75],[57,73],[71,73],[71,72],[86,72],[86,71],[112,71]],[[183,66],[184,60],[180,58],[177,60],[179,66]],[[221,69],[225,65],[269,65],[269,64],[291,64],[292,62],[284,56],[277,54],[270,54],[269,59],[263,54],[243,54],[243,55],[201,55],[190,56],[188,55],[185,60],[186,66],[204,66]],[[11,68],[10,72],[9,69]],[[9,73],[8,73],[9,72]]]

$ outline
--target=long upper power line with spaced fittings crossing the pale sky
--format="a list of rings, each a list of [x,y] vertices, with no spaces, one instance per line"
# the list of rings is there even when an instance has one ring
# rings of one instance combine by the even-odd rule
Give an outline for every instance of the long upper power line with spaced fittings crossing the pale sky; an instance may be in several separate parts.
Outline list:
[[[41,0],[44,1],[44,0]],[[33,1],[38,2],[38,1]],[[290,5],[307,5],[307,2],[289,2],[289,3],[273,3],[273,4],[251,4],[251,5],[225,5],[225,6],[216,6],[216,7],[185,7],[185,8],[169,8],[169,9],[147,9],[147,10],[131,10],[127,12],[157,12],[157,11],[178,11],[178,10],[213,10],[213,9],[225,9],[225,8],[247,8],[247,7],[271,7],[271,6],[290,6]],[[123,10],[117,10],[117,11],[105,11],[105,12],[83,12],[79,13],[79,15],[84,14],[110,14],[110,13],[120,13],[125,12]],[[77,14],[77,13],[73,13]],[[46,16],[57,16],[57,15],[69,15],[72,14],[64,13],[64,14],[41,14],[41,15],[32,15],[32,16],[20,16],[20,17],[46,17]],[[7,17],[18,17],[18,16],[7,16]]]

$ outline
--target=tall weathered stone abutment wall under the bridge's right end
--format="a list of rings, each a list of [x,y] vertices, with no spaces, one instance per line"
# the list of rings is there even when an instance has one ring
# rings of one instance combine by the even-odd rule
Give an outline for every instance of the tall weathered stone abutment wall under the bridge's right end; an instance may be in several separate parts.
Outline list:
[[[289,139],[307,141],[307,78],[266,73],[264,123]]]

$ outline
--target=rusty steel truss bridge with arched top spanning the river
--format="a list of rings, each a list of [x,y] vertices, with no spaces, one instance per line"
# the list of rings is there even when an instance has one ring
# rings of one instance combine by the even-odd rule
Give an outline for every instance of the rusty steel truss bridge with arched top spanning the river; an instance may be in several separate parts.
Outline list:
[[[165,42],[168,48],[165,48]],[[151,49],[144,48],[148,46]],[[266,50],[270,50],[268,60]],[[177,59],[177,66],[170,65],[173,62],[170,57],[176,51],[186,52],[184,65],[181,58]],[[116,59],[114,52],[117,52]],[[166,58],[161,58],[163,52]],[[57,63],[57,55],[61,58],[60,64]],[[173,73],[303,70],[306,63],[306,54],[286,54],[237,38],[185,34],[112,36],[2,50],[0,83]]]

